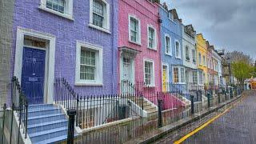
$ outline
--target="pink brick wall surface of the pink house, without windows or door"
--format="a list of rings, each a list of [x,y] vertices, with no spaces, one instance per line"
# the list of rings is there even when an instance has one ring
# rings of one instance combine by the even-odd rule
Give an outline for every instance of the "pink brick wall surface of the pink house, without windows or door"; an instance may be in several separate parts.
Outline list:
[[[143,59],[148,58],[154,61],[154,82],[155,90],[161,90],[161,58],[160,58],[160,37],[158,23],[158,5],[146,0],[126,1],[119,0],[118,15],[118,47],[127,46],[134,50],[141,51],[134,59],[135,82],[144,81]],[[141,45],[129,42],[129,14],[136,16],[141,23]],[[147,48],[147,25],[154,26],[157,33],[157,50]],[[118,55],[118,62],[120,55]],[[120,66],[118,64],[118,71]],[[120,74],[118,72],[118,74]],[[120,76],[119,76],[120,77]]]

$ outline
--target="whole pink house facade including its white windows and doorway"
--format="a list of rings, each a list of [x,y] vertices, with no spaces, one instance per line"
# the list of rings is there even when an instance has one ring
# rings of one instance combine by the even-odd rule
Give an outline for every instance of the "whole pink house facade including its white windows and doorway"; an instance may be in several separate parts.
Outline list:
[[[160,91],[161,58],[158,3],[147,0],[119,0],[119,82],[144,82]]]

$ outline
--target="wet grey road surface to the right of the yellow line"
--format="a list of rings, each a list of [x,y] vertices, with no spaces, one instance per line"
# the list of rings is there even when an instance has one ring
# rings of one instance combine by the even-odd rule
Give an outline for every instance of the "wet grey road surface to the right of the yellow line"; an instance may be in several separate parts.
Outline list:
[[[256,95],[247,96],[183,143],[256,143]]]

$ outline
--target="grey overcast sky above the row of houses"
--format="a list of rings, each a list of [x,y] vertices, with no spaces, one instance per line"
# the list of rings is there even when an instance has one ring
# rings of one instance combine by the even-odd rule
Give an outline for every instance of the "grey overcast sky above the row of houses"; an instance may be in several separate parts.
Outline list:
[[[256,0],[162,0],[217,49],[256,58]]]

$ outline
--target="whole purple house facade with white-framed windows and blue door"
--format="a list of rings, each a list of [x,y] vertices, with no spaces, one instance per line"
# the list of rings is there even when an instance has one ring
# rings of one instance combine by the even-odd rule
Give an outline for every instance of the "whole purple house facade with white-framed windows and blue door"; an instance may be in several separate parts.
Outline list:
[[[29,102],[54,102],[56,78],[79,94],[117,93],[117,18],[116,0],[15,1],[10,75]]]

